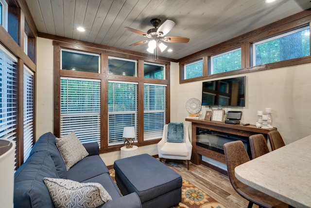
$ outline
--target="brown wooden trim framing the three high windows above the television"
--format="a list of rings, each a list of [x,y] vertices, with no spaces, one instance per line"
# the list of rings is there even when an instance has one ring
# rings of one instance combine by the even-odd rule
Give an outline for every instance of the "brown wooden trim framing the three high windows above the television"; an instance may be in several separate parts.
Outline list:
[[[275,63],[268,63],[259,66],[251,66],[251,47],[252,42],[257,41],[262,38],[271,37],[282,32],[286,32],[291,29],[301,27],[311,22],[311,10],[305,10],[290,17],[278,20],[274,23],[263,26],[259,29],[253,30],[251,32],[245,33],[239,37],[232,38],[198,53],[192,54],[188,57],[183,57],[178,60],[179,62],[179,83],[189,83],[194,81],[219,78],[224,76],[241,75],[251,72],[258,72],[282,67],[289,67],[293,65],[311,63],[311,56],[299,57],[290,60],[279,61]],[[184,78],[184,64],[191,61],[203,58],[208,60],[210,56],[218,53],[222,53],[231,50],[236,47],[241,47],[242,49],[242,69],[234,70],[230,72],[208,75],[210,69],[208,63],[203,65],[204,72],[203,76],[183,79]]]

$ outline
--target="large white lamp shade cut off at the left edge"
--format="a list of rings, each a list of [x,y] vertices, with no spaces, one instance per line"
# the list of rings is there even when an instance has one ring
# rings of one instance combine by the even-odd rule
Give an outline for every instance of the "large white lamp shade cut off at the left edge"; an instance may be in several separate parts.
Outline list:
[[[15,142],[0,139],[0,202],[3,208],[13,208]]]

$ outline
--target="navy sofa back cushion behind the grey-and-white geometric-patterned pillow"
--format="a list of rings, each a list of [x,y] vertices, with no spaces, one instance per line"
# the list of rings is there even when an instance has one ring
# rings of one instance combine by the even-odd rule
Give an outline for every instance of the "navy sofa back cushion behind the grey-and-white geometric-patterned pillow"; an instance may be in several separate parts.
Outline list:
[[[43,178],[58,178],[48,151],[34,152],[15,172],[15,208],[54,208]]]

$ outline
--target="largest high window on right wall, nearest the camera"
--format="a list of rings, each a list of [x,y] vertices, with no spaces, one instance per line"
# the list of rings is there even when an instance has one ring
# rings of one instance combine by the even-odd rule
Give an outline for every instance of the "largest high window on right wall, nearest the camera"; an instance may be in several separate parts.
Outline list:
[[[310,56],[310,26],[253,43],[253,65]]]

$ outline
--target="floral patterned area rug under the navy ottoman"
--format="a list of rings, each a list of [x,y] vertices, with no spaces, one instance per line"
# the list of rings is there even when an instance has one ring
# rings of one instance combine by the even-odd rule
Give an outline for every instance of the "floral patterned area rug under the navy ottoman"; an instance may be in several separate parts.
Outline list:
[[[115,180],[115,171],[109,170],[110,176]],[[171,208],[225,208],[215,199],[208,196],[202,190],[193,186],[190,182],[183,179],[181,187],[181,202],[178,206]]]

